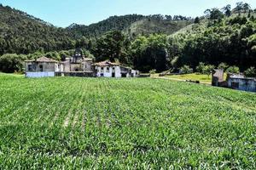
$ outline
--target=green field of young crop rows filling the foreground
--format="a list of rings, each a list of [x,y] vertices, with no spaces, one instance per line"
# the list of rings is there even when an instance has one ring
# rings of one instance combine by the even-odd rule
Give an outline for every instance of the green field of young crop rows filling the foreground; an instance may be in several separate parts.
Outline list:
[[[255,169],[256,96],[161,79],[0,75],[0,169]]]

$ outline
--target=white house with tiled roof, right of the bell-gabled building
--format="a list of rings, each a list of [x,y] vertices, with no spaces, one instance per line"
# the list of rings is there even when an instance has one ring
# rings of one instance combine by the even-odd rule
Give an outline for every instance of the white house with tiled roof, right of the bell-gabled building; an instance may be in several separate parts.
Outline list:
[[[138,77],[139,71],[108,60],[94,64],[96,77]]]

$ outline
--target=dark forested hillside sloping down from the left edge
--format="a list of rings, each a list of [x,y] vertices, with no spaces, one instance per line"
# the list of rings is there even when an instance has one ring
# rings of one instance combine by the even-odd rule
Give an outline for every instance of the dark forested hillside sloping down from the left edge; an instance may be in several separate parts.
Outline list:
[[[71,33],[0,4],[0,54],[74,48]]]

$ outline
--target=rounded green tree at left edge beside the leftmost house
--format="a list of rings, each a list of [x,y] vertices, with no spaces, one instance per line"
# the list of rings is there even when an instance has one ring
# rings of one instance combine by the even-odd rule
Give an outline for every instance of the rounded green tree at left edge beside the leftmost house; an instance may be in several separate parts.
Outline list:
[[[13,73],[15,71],[22,71],[23,61],[26,59],[25,55],[17,54],[3,54],[0,57],[0,71]]]

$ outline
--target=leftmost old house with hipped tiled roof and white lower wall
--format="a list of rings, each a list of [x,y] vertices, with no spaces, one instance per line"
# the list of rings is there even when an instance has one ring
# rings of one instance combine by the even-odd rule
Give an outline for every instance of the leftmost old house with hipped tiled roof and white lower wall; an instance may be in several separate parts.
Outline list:
[[[26,77],[55,77],[56,71],[63,71],[63,65],[54,59],[40,57],[25,61]]]

